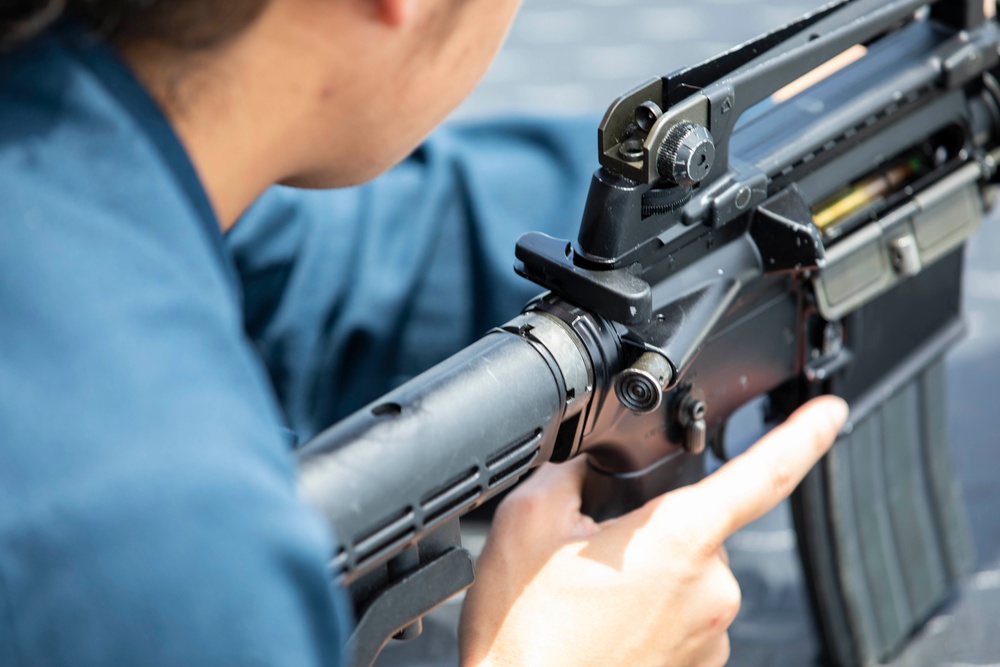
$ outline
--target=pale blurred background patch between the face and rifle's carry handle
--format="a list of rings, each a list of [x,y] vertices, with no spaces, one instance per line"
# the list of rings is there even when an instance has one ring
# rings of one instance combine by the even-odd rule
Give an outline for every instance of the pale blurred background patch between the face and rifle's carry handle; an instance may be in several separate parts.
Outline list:
[[[459,109],[603,112],[646,79],[707,60],[823,0],[524,0],[507,43]]]

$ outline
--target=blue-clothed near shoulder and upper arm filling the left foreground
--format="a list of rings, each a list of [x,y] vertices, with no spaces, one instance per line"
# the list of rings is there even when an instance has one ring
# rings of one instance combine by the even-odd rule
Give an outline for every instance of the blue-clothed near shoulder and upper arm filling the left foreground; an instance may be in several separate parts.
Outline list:
[[[221,239],[107,82],[63,65],[65,89],[0,77],[0,608],[20,657],[335,661],[330,537]]]

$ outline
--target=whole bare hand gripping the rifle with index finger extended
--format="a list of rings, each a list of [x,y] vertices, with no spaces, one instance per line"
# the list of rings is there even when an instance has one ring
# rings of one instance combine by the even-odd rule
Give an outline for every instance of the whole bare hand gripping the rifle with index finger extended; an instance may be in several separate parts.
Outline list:
[[[846,404],[816,399],[698,484],[601,524],[582,460],[501,504],[462,610],[465,667],[723,665],[740,590],[722,550],[826,452]]]

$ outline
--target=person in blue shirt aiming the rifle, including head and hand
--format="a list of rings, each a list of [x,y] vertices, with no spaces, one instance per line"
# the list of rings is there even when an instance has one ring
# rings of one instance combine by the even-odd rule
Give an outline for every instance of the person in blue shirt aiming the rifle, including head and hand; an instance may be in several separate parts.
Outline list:
[[[511,240],[568,234],[593,166],[574,121],[414,148],[517,4],[0,3],[0,664],[343,664],[289,431],[512,315]],[[845,418],[819,399],[602,524],[579,463],[543,468],[498,512],[463,664],[723,664],[722,542]]]

